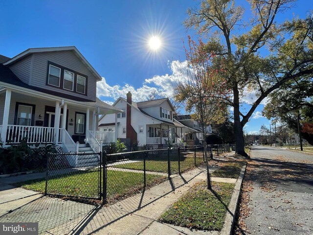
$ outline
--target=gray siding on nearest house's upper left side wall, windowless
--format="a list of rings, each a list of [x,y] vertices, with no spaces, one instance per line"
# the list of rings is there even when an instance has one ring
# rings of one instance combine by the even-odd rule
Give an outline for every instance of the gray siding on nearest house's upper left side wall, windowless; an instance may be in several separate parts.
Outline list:
[[[29,85],[30,79],[30,71],[31,71],[31,59],[32,56],[27,56],[21,61],[10,66],[10,70],[14,72],[14,74],[22,80],[22,82]]]

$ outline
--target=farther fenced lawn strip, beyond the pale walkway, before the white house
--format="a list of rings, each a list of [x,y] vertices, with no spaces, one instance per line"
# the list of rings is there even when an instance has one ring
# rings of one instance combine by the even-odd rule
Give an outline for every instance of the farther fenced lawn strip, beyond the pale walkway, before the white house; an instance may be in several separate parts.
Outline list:
[[[171,163],[171,172],[172,173],[178,172],[179,159],[176,154],[175,155],[172,154],[170,156],[170,163]],[[203,163],[202,152],[197,152],[196,153],[196,165],[200,165],[202,163]],[[143,161],[135,162],[135,163],[113,165],[112,167],[143,170]],[[195,167],[194,153],[180,154],[180,171],[183,172],[193,167]],[[160,155],[160,156],[155,156],[155,157],[148,157],[146,160],[146,170],[167,173],[168,172],[167,156]]]

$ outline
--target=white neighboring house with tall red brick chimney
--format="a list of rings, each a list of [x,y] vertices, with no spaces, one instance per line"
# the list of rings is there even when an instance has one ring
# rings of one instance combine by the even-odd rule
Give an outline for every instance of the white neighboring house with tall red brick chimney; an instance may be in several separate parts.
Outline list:
[[[99,130],[115,131],[116,137],[128,146],[137,144],[168,144],[181,141],[179,129],[187,128],[174,119],[174,108],[168,98],[144,102],[119,97],[113,104],[122,110],[119,114],[103,115],[99,119]]]

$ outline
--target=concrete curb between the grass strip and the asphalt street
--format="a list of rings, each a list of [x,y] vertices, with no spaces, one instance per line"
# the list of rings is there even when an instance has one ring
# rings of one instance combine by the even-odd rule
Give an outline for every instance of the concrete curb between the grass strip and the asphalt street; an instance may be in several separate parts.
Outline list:
[[[243,168],[241,169],[240,175],[236,181],[234,192],[229,202],[228,211],[226,212],[224,226],[221,232],[219,233],[220,235],[232,234],[233,226],[234,226],[235,219],[236,219],[236,211],[238,207],[239,196],[241,193],[241,186],[244,180],[245,173],[246,173],[246,165],[244,165]]]

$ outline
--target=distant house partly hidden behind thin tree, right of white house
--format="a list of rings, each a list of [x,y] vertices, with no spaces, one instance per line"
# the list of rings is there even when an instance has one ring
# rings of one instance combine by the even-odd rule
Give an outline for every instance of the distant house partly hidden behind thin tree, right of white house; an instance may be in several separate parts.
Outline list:
[[[197,120],[193,120],[190,115],[179,115],[175,116],[181,124],[187,126],[189,129],[184,129],[183,132],[183,141],[188,145],[197,145],[202,144],[202,126],[201,123]],[[209,124],[206,126],[205,130],[206,136],[212,134],[212,126]]]

